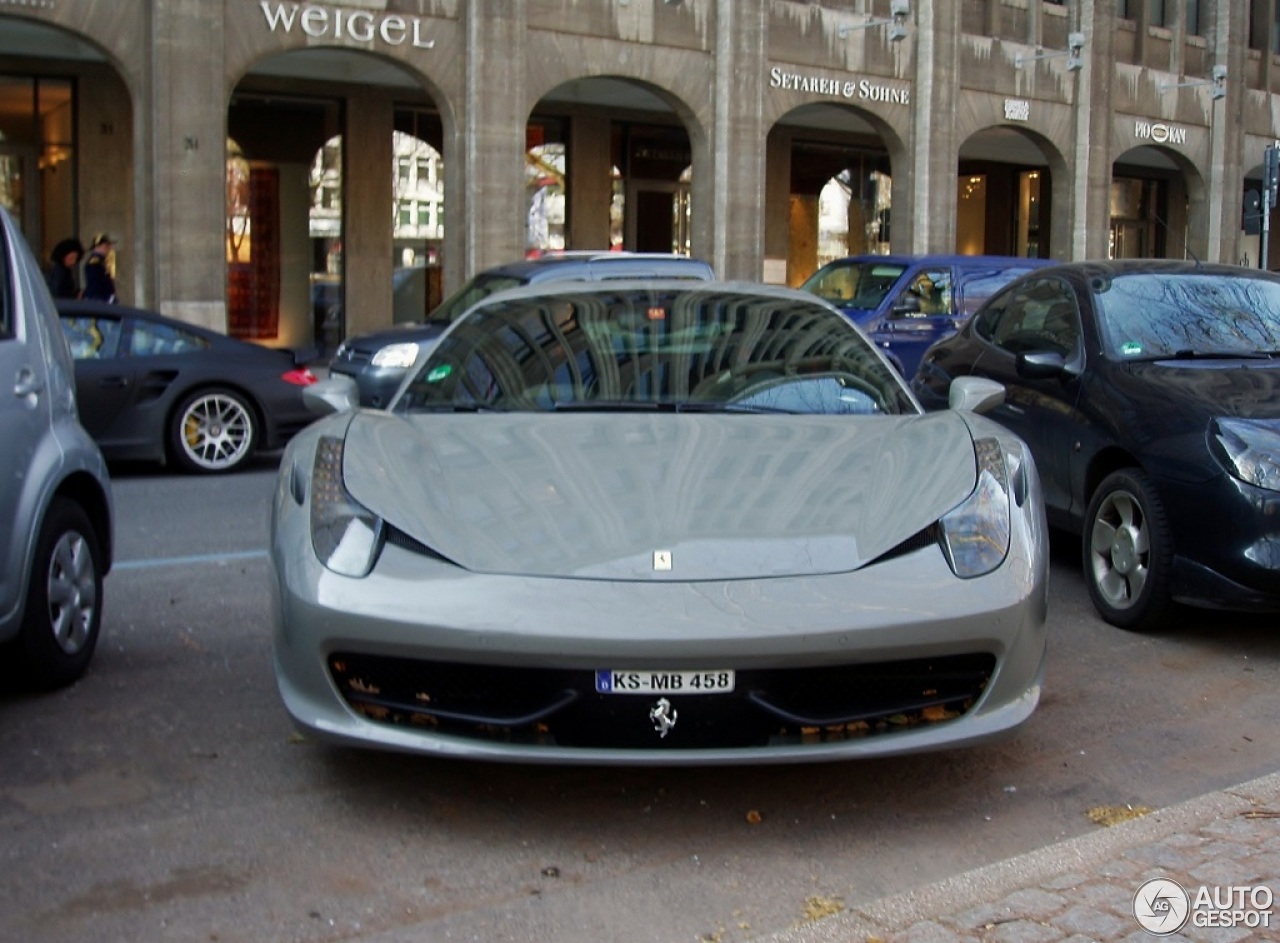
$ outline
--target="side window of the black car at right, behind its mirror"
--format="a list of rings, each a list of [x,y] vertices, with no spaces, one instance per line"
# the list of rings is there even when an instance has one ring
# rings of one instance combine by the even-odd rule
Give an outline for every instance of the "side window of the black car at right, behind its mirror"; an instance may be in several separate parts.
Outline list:
[[[1080,342],[1075,294],[1057,279],[1025,281],[988,305],[974,333],[1009,353],[1050,351],[1068,357]]]

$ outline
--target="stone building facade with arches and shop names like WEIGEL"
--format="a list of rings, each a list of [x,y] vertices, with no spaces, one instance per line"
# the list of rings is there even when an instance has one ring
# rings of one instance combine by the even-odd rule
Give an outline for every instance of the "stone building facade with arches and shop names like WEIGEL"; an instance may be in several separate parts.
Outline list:
[[[845,252],[1258,265],[1275,6],[0,0],[0,200],[41,253],[110,232],[124,301],[293,345],[325,274],[349,334],[390,322],[406,251],[436,292],[526,255],[539,166],[564,247],[727,278],[810,274],[833,183]],[[397,131],[439,155],[438,244],[396,241]]]

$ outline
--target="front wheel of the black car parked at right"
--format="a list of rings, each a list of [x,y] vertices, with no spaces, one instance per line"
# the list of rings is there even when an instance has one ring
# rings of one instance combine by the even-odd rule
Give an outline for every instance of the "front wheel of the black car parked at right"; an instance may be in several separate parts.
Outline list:
[[[1084,518],[1084,581],[1103,619],[1153,628],[1170,604],[1174,545],[1151,480],[1137,468],[1108,475]]]

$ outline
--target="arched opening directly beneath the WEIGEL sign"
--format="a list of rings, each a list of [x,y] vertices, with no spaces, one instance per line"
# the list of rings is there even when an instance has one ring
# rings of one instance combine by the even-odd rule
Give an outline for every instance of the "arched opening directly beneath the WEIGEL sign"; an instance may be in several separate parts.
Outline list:
[[[230,334],[328,354],[426,316],[442,294],[444,133],[415,74],[369,52],[284,52],[241,79],[227,125],[253,233],[248,257],[228,251]]]

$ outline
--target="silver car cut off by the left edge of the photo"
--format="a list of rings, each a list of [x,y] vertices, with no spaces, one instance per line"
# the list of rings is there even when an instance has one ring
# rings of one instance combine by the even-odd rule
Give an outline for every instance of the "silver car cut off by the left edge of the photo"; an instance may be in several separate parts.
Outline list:
[[[0,665],[55,687],[88,668],[111,568],[111,484],[76,415],[54,299],[0,207]]]

